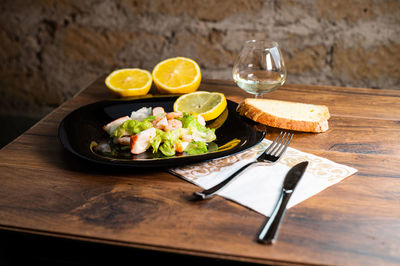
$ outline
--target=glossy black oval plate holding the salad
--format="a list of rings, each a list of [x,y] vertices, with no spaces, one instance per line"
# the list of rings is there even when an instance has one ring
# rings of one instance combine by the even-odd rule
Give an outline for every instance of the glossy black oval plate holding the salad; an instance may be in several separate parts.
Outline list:
[[[109,100],[83,106],[61,121],[58,137],[64,148],[78,157],[103,165],[130,166],[130,167],[171,167],[182,164],[191,164],[215,158],[232,155],[247,150],[261,142],[264,132],[256,131],[236,112],[237,103],[228,100],[228,116],[225,122],[216,129],[218,147],[227,143],[236,143],[228,149],[208,152],[201,155],[182,155],[156,158],[152,153],[146,155],[132,155],[129,159],[106,157],[96,154],[90,148],[93,141],[101,142],[109,138],[102,127],[121,116],[130,115],[141,107],[162,106],[165,111],[173,110],[177,97],[151,97],[136,100]],[[225,113],[226,114],[226,113]],[[222,117],[222,115],[220,116]],[[223,119],[222,119],[223,120]],[[220,118],[209,121],[208,125],[221,122]],[[214,124],[213,124],[214,123]]]

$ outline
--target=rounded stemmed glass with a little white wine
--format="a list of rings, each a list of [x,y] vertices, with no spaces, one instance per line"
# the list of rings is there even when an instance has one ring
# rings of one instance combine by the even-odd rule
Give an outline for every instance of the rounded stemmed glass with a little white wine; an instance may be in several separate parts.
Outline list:
[[[277,42],[245,42],[233,66],[233,80],[244,91],[262,98],[286,80],[286,67]]]

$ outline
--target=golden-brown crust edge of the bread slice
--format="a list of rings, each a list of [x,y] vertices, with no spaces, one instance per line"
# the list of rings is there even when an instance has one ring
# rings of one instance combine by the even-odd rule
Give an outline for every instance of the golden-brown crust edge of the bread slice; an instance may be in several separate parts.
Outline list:
[[[328,120],[301,121],[277,117],[243,101],[237,107],[240,115],[246,116],[258,123],[287,130],[321,133],[329,129]],[[329,114],[327,115],[329,117]]]

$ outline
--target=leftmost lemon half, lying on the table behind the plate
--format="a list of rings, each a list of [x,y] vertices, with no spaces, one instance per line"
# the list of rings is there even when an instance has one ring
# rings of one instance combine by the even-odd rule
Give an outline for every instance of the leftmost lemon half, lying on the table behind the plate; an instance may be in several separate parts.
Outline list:
[[[123,68],[113,71],[106,78],[106,86],[122,96],[146,95],[153,79],[149,71],[139,68]]]

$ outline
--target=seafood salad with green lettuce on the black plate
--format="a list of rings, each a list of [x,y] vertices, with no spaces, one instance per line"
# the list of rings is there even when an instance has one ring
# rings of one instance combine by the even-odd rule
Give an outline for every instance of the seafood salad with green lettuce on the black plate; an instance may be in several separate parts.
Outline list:
[[[142,107],[130,116],[120,117],[103,127],[113,144],[130,149],[132,154],[147,150],[164,156],[202,154],[216,139],[202,116],[165,112],[162,107]]]

